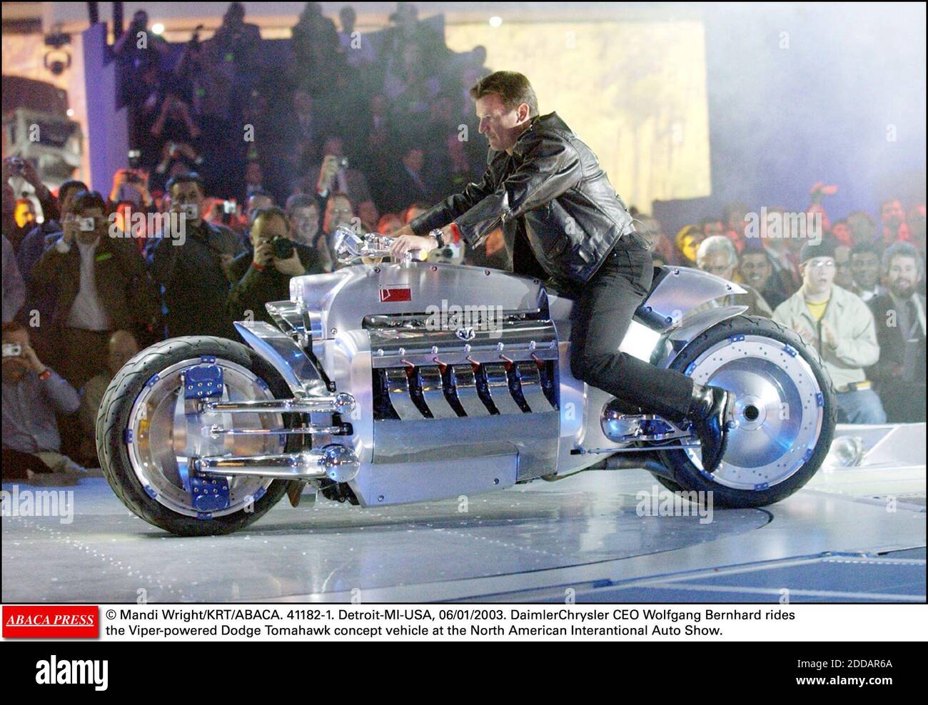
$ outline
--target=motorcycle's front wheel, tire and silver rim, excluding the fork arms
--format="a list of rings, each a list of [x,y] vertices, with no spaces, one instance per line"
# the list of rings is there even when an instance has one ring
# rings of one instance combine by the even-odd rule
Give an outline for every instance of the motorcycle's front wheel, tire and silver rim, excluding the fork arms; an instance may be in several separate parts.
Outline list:
[[[276,505],[287,486],[269,478],[235,478],[226,509],[204,513],[193,506],[178,471],[177,444],[186,441],[177,432],[174,413],[180,375],[205,363],[223,367],[229,398],[290,396],[277,371],[241,343],[189,336],[135,355],[110,382],[97,414],[97,454],[113,492],[135,516],[181,536],[236,532]],[[250,428],[283,425],[279,415],[270,414],[237,414],[235,420]],[[254,444],[252,439],[244,443]],[[278,437],[260,443],[258,452],[277,453],[288,444]]]

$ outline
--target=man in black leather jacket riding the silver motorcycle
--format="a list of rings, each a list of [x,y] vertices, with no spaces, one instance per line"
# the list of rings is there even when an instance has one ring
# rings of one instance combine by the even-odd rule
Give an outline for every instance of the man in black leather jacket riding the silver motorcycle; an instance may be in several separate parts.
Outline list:
[[[469,184],[395,233],[393,255],[428,252],[460,237],[471,248],[500,225],[514,235],[513,271],[579,290],[572,331],[574,377],[645,413],[690,421],[702,468],[714,472],[728,441],[728,391],[622,353],[651,288],[648,245],[632,226],[599,160],[557,113],[539,115],[531,83],[496,71],[478,81],[480,133],[490,143],[481,182]]]

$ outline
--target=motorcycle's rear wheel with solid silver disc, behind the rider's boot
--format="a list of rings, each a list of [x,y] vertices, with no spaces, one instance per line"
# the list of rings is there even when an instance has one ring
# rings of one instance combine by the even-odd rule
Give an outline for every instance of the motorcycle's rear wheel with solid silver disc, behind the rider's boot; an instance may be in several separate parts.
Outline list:
[[[734,392],[739,423],[712,475],[698,448],[659,454],[684,491],[712,492],[720,507],[767,506],[805,485],[828,455],[837,419],[831,378],[792,330],[735,316],[692,340],[670,367]]]

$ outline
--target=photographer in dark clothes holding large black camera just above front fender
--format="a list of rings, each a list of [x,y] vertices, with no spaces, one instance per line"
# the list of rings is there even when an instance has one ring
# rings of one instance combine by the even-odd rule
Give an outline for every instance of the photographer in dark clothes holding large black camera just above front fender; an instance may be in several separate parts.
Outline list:
[[[277,207],[254,214],[251,250],[228,267],[232,281],[226,309],[234,320],[273,323],[264,304],[290,299],[290,278],[321,273],[316,250],[295,242],[287,213]]]

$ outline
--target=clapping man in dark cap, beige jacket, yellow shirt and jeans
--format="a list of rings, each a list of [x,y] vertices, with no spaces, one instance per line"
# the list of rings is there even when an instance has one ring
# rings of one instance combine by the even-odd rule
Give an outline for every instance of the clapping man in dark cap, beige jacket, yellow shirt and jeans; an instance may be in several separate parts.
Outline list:
[[[838,417],[846,423],[886,422],[880,397],[864,372],[880,359],[873,314],[867,304],[834,283],[834,242],[806,244],[800,253],[803,285],[773,312],[821,355],[837,392]]]

